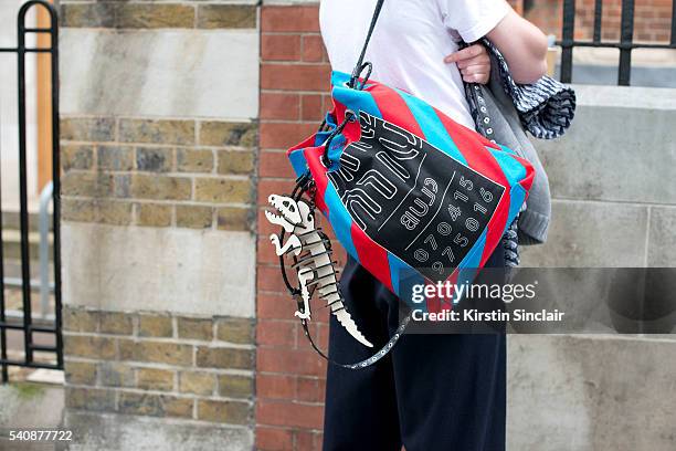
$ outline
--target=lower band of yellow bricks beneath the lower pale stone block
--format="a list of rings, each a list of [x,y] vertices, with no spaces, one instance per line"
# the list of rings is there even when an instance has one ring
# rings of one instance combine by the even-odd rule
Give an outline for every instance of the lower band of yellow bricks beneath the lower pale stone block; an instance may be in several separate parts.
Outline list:
[[[68,307],[66,406],[247,426],[253,329],[246,318]]]

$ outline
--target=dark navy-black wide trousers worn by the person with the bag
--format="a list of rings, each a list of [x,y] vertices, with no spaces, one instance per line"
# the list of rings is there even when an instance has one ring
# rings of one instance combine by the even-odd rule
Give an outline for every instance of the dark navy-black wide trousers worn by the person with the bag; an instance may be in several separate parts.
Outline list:
[[[498,247],[486,266],[504,268]],[[341,277],[346,306],[373,348],[331,315],[329,353],[344,363],[369,357],[399,322],[397,297],[350,259]],[[324,451],[505,450],[506,339],[501,334],[401,337],[362,370],[329,365]]]

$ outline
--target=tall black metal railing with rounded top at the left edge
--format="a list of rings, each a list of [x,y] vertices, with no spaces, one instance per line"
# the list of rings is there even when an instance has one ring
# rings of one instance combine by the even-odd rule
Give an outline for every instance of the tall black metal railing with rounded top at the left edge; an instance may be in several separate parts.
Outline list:
[[[29,28],[25,24],[27,13],[33,8],[45,8],[50,25],[46,28]],[[59,20],[54,7],[43,0],[31,0],[19,10],[17,20],[18,41],[15,48],[0,48],[0,54],[10,53],[17,55],[18,66],[18,124],[19,124],[19,201],[20,201],[20,249],[21,249],[21,297],[22,315],[20,321],[11,321],[6,312],[4,297],[4,255],[0,245],[0,367],[2,382],[9,380],[8,366],[22,366],[33,368],[63,368],[63,340],[61,334],[61,234],[59,227],[60,218],[60,161],[59,161]],[[50,35],[49,46],[28,48],[27,35],[29,33],[47,33]],[[53,183],[53,268],[54,268],[54,317],[52,321],[36,323],[33,321],[31,308],[31,271],[30,271],[30,242],[29,242],[29,210],[28,210],[28,174],[27,174],[27,102],[25,102],[25,63],[27,55],[31,53],[51,54],[51,129],[52,129],[52,183]],[[0,196],[1,204],[1,196]],[[0,239],[2,237],[2,224],[0,221]],[[1,240],[0,240],[1,241]],[[23,333],[23,358],[10,358],[8,356],[8,331],[21,331]],[[35,343],[33,334],[54,335],[53,345],[41,345]],[[35,360],[34,352],[54,353],[55,361]]]

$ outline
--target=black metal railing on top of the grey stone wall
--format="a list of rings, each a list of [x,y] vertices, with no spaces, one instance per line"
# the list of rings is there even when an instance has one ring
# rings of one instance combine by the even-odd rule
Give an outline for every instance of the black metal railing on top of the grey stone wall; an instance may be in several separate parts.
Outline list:
[[[634,49],[676,49],[676,0],[672,8],[672,35],[669,42],[634,42],[634,0],[622,0],[622,15],[620,19],[620,40],[608,42],[601,39],[601,24],[603,17],[603,0],[594,0],[594,29],[591,41],[577,41],[575,33],[575,0],[563,0],[563,30],[562,39],[557,42],[561,46],[561,81],[572,81],[573,49],[577,46],[609,48],[620,50],[617,67],[617,84],[629,86],[632,74],[632,51]]]

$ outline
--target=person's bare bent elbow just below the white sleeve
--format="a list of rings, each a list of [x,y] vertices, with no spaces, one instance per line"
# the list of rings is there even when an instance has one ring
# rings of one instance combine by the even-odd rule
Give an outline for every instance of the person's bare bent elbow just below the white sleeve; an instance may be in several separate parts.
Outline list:
[[[511,8],[486,38],[505,56],[515,82],[535,83],[547,73],[547,36]]]

